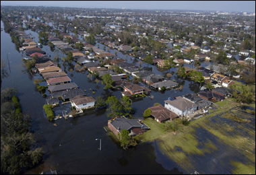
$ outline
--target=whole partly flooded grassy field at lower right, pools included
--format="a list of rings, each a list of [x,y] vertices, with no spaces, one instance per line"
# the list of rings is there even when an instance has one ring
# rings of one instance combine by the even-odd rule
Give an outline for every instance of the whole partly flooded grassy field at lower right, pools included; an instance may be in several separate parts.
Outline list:
[[[137,135],[136,138],[143,142],[157,140],[162,152],[187,173],[197,170],[200,174],[218,174],[218,171],[221,173],[222,170],[224,174],[254,174],[255,116],[231,99],[218,102],[218,105],[221,108],[192,121],[187,127],[181,127],[176,135],[165,131],[164,123],[146,118],[143,122],[150,127],[150,131]],[[240,123],[222,117],[226,112],[236,114],[249,122]],[[216,160],[213,164],[220,167],[218,170],[211,170],[202,165],[206,163],[201,160],[210,162],[212,159]]]

